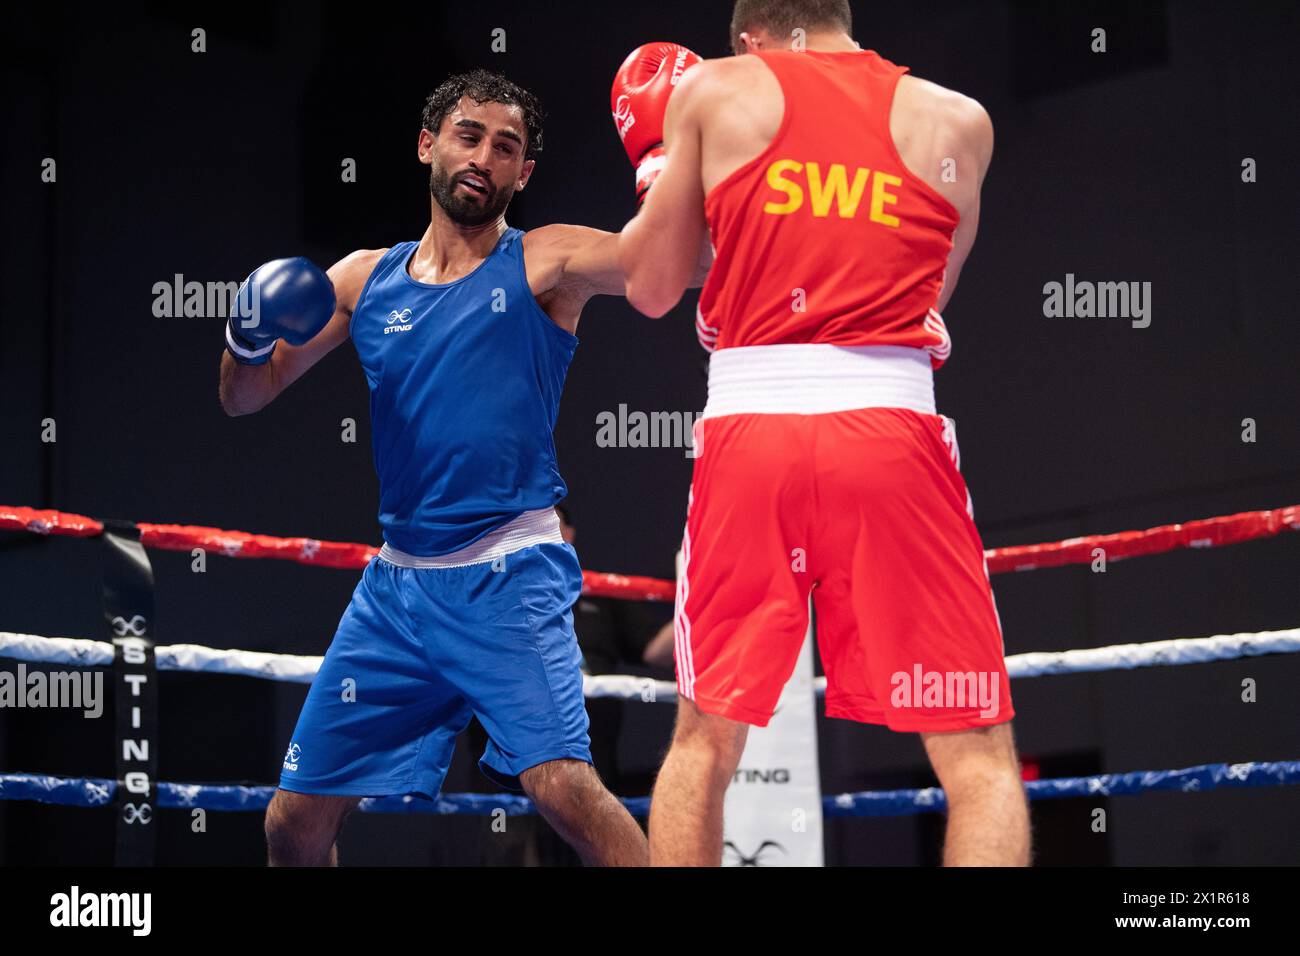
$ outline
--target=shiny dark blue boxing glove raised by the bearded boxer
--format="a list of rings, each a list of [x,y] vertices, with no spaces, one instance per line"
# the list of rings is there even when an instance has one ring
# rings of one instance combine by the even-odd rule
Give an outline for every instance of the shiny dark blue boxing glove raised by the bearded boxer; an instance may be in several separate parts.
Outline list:
[[[278,339],[306,345],[315,338],[334,315],[334,284],[309,259],[273,259],[239,286],[226,323],[226,349],[244,365],[270,362]]]

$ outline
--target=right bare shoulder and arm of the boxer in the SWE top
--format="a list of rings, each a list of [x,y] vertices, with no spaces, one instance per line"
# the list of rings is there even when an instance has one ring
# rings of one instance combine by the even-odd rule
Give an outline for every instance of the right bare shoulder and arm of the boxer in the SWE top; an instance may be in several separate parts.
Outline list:
[[[961,216],[939,294],[937,308],[942,312],[975,245],[979,194],[993,156],[993,124],[971,98],[926,79],[902,77],[889,114],[889,133],[904,164]]]

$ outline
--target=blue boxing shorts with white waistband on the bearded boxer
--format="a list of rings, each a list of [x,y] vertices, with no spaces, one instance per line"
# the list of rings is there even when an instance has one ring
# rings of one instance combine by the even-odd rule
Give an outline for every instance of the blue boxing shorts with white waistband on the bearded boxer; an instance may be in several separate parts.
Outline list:
[[[312,682],[282,790],[432,799],[472,715],[490,739],[478,769],[507,790],[550,760],[592,762],[572,613],[581,566],[558,529],[517,548],[530,540],[521,519],[541,520],[525,512],[443,558],[384,546]]]

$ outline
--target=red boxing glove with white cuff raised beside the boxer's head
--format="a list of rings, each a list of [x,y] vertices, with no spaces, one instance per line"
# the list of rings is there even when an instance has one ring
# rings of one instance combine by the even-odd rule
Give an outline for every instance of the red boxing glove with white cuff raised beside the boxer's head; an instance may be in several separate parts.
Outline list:
[[[633,49],[614,74],[610,109],[623,148],[637,168],[637,207],[663,169],[663,117],[681,74],[701,57],[677,43],[647,43]]]

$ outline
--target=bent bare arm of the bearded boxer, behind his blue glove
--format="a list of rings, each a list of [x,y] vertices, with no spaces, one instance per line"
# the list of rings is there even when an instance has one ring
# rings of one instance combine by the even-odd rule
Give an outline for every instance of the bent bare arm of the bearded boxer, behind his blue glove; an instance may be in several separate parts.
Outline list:
[[[281,341],[261,365],[242,365],[230,352],[221,354],[218,395],[226,415],[250,415],[266,407],[281,392],[347,341],[347,324],[361,295],[365,280],[387,250],[363,248],[334,263],[326,274],[334,284],[334,315],[317,336],[303,346]]]

